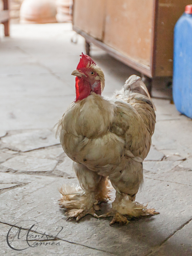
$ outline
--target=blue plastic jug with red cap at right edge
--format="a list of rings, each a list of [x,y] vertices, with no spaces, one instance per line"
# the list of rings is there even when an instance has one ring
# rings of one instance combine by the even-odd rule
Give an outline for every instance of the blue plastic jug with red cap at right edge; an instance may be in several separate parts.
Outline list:
[[[192,5],[175,25],[173,100],[180,113],[192,118]]]

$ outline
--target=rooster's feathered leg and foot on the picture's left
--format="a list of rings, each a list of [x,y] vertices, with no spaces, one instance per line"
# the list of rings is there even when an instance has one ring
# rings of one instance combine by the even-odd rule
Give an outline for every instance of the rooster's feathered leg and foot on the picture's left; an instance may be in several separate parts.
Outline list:
[[[99,210],[97,204],[108,198],[105,177],[97,175],[83,164],[75,163],[74,169],[81,187],[64,185],[59,190],[62,196],[60,206],[66,209],[68,218],[76,218],[76,221],[87,214],[99,218],[95,213]]]

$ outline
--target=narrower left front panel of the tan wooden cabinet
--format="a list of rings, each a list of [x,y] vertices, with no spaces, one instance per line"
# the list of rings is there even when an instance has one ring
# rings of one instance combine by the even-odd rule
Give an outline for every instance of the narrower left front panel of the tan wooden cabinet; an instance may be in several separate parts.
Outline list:
[[[105,0],[75,0],[73,25],[102,41]]]

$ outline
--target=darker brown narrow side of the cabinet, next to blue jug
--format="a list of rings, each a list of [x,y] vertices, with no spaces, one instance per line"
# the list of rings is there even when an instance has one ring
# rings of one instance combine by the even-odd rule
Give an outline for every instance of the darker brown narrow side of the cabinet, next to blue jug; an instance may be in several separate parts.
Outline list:
[[[155,76],[172,76],[174,26],[189,0],[159,0]]]

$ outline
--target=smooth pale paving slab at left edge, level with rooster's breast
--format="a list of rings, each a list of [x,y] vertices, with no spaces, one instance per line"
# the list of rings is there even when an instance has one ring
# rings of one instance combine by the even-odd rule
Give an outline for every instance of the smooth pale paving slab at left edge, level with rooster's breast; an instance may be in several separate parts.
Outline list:
[[[0,98],[1,128],[5,130],[52,128],[76,96]],[[17,108],[15,107],[17,106]]]

